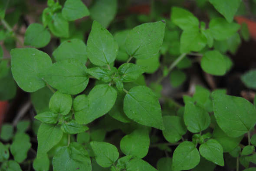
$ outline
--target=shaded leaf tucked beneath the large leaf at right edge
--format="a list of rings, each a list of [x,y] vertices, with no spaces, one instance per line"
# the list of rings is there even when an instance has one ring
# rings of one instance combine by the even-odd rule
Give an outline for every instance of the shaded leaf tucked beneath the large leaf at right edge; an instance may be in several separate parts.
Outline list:
[[[243,139],[243,135],[238,137],[230,137],[226,135],[218,125],[216,125],[213,130],[213,139],[216,139],[220,143],[223,148],[223,152],[230,152],[240,144]]]

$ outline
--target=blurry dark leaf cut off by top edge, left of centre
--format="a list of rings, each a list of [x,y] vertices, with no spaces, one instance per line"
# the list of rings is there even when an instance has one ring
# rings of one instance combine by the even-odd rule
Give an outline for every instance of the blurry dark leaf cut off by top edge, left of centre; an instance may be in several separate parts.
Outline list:
[[[117,13],[117,0],[96,0],[90,6],[91,18],[107,28]]]

